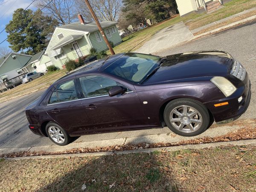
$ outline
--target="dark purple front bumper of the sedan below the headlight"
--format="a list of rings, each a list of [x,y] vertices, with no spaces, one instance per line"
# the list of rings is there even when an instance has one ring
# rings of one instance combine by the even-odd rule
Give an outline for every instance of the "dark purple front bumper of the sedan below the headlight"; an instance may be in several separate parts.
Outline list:
[[[211,111],[215,122],[231,122],[238,119],[248,108],[250,104],[251,90],[248,75],[243,81],[243,86],[239,87],[232,96],[224,99],[204,103]],[[238,99],[242,96],[241,102]],[[228,105],[215,107],[214,104],[228,102]]]

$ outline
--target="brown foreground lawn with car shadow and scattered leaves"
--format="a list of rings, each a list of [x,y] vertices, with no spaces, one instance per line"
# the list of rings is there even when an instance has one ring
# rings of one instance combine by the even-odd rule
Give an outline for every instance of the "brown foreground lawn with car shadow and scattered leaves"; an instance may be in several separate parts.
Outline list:
[[[1,191],[255,191],[256,146],[0,160]],[[86,188],[86,189],[85,189]]]

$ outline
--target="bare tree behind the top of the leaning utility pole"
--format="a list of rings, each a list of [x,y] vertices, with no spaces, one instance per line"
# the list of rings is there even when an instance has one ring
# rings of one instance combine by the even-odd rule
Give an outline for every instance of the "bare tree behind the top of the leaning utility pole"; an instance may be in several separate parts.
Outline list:
[[[90,4],[99,20],[114,21],[118,19],[122,0],[90,0]],[[93,21],[84,0],[76,1],[76,9],[86,20]]]

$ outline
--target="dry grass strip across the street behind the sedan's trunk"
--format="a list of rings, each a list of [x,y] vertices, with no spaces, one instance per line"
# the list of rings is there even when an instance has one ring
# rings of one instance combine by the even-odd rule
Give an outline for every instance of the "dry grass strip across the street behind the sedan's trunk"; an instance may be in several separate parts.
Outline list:
[[[21,84],[13,89],[0,93],[0,101],[10,97],[29,93],[33,90],[41,90],[49,87],[54,81],[66,74],[66,70],[58,70],[55,72],[47,72],[44,76],[39,77],[26,84]]]

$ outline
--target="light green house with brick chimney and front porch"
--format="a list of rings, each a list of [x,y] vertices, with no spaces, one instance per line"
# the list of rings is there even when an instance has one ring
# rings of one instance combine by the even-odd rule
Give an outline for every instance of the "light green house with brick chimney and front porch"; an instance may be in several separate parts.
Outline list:
[[[46,53],[52,64],[59,68],[62,68],[68,59],[76,60],[89,55],[91,47],[97,52],[108,49],[96,23],[84,22],[81,15],[79,15],[79,20],[79,22],[56,27],[48,44]],[[116,22],[103,21],[101,26],[108,40],[114,45],[122,42]]]

